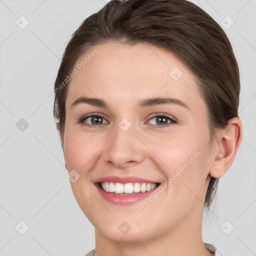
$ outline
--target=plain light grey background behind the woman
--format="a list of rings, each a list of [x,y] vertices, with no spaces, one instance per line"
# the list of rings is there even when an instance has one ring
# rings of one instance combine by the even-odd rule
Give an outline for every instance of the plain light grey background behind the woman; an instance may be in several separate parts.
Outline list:
[[[0,255],[85,255],[95,246],[94,227],[66,177],[53,99],[46,94],[71,33],[105,2],[0,0]],[[256,1],[194,2],[218,23],[230,25],[226,15],[234,21],[228,29],[221,26],[240,68],[243,123],[243,140],[220,178],[214,213],[203,217],[203,241],[225,256],[256,255]],[[21,15],[29,21],[24,29],[15,23]],[[20,126],[21,118],[28,127]],[[29,226],[24,234],[20,221]]]

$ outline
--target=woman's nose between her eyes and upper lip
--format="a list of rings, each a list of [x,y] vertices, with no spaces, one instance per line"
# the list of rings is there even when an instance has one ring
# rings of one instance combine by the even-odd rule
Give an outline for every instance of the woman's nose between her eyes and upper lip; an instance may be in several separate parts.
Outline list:
[[[102,157],[107,164],[117,168],[132,166],[143,161],[145,146],[133,133],[133,126],[123,131],[118,125],[114,128],[114,135],[105,145]]]

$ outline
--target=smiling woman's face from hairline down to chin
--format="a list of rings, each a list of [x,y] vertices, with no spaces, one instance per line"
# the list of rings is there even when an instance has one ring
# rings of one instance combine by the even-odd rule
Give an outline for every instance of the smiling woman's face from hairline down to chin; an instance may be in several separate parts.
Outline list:
[[[63,149],[74,196],[97,232],[143,241],[199,227],[213,156],[191,72],[158,47],[113,42],[91,47],[74,67]],[[112,181],[116,194],[96,181],[105,189]],[[122,187],[153,189],[123,195]]]

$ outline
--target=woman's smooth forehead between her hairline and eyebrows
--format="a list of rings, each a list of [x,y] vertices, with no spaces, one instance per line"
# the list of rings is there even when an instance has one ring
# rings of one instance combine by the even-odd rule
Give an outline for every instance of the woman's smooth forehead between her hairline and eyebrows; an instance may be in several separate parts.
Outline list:
[[[123,104],[156,94],[182,96],[188,102],[198,97],[191,95],[198,88],[189,69],[173,53],[146,43],[96,44],[79,56],[74,68],[77,74],[68,85],[67,105],[82,95],[111,95],[112,101],[116,96]]]

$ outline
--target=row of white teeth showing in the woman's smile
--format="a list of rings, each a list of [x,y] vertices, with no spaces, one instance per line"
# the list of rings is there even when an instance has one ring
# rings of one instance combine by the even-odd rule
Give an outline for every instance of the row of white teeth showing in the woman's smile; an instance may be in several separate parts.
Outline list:
[[[101,182],[101,188],[106,192],[115,192],[115,193],[139,193],[150,191],[156,187],[156,183],[114,183],[114,182]]]

